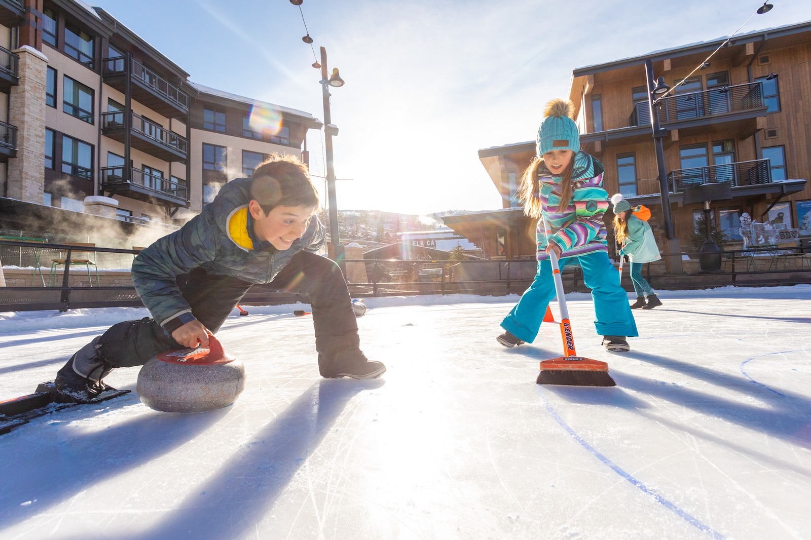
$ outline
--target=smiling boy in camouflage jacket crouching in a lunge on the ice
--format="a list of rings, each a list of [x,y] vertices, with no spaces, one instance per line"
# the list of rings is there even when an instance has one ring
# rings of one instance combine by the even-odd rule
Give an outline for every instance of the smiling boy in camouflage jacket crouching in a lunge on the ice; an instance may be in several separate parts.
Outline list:
[[[169,349],[208,346],[251,285],[307,294],[324,377],[372,379],[386,371],[359,348],[358,323],[338,265],[315,255],[325,230],[307,166],[273,154],[251,178],[222,186],[181,229],[140,251],[135,290],[152,317],[114,324],[77,351],[54,386],[79,402],[105,389],[116,367],[141,366]]]

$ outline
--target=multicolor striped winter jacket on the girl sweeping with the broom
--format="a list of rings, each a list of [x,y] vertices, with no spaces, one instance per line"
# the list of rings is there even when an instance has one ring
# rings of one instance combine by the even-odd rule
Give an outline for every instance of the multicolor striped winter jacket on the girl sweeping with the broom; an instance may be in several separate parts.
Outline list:
[[[561,258],[607,251],[607,231],[603,214],[608,208],[608,193],[603,189],[603,164],[586,152],[574,156],[572,198],[563,212],[560,204],[560,176],[553,177],[545,167],[539,169],[542,214],[550,228],[550,241],[560,247]],[[547,236],[543,219],[538,221],[538,260],[547,259]]]

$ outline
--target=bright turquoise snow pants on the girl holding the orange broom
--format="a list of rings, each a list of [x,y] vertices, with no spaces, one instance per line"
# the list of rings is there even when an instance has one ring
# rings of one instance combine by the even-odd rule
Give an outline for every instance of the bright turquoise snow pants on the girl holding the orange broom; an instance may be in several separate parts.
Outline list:
[[[594,312],[597,320],[594,328],[600,336],[638,336],[637,324],[628,303],[628,294],[620,287],[616,268],[605,251],[597,251],[579,257],[560,259],[561,272],[566,264],[574,259],[583,268],[583,281],[591,289]],[[501,321],[501,328],[521,341],[532,343],[538,336],[543,315],[552,298],[555,298],[555,281],[552,279],[552,265],[549,259],[539,261],[538,272],[529,289],[521,295],[521,300]]]

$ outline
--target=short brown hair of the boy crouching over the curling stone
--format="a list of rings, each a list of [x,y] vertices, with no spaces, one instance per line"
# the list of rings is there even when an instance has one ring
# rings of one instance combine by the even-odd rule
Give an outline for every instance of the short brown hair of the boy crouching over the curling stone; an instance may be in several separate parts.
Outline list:
[[[319,205],[307,165],[296,156],[271,154],[253,172],[251,199],[262,207],[265,215],[277,206]]]

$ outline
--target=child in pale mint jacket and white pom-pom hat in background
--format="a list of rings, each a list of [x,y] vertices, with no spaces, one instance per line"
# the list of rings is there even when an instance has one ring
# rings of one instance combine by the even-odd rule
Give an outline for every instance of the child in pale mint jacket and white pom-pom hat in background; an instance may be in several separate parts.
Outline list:
[[[631,309],[642,307],[643,310],[650,310],[661,306],[662,302],[654,293],[654,289],[642,277],[643,264],[662,258],[662,255],[659,255],[659,247],[656,246],[654,233],[647,221],[633,215],[631,204],[620,193],[611,197],[611,204],[614,204],[614,235],[622,246],[620,257],[628,255],[633,290],[637,293],[637,302],[631,305]]]

